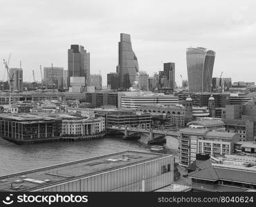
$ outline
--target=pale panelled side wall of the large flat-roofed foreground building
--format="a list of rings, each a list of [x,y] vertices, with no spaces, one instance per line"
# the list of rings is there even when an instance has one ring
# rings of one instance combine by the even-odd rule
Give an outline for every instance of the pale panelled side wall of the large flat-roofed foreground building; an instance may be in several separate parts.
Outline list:
[[[170,155],[90,177],[38,189],[44,192],[143,192],[172,184],[174,159]]]

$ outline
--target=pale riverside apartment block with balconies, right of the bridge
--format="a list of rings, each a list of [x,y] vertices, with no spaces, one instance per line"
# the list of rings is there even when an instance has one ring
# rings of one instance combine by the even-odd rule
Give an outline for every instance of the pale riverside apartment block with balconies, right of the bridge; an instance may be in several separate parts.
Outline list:
[[[205,153],[214,157],[234,152],[234,144],[239,135],[230,132],[216,132],[202,128],[179,130],[179,158],[181,166],[188,167],[196,159],[196,154]]]

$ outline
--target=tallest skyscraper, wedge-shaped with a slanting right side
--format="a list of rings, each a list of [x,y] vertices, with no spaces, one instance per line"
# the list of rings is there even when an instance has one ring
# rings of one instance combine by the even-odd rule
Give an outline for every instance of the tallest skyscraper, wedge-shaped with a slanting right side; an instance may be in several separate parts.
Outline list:
[[[116,69],[120,75],[120,88],[130,88],[134,83],[136,72],[138,72],[138,60],[131,47],[130,34],[120,34]]]

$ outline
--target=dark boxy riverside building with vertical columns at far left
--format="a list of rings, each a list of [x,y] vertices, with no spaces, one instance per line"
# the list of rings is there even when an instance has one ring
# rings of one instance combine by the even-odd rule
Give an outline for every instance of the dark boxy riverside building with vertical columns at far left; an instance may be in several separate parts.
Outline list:
[[[37,115],[0,114],[0,137],[16,144],[59,139],[62,120]]]

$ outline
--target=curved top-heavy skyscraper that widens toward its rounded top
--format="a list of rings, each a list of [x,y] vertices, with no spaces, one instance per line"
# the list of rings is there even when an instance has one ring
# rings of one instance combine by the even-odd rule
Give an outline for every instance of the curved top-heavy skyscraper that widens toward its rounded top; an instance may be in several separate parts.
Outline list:
[[[205,48],[187,48],[189,92],[210,92],[215,52]]]

